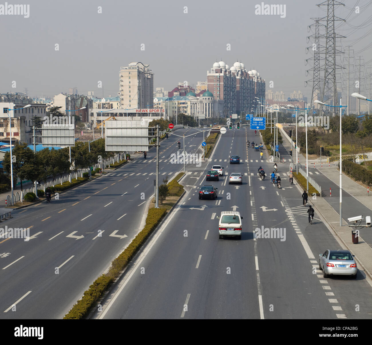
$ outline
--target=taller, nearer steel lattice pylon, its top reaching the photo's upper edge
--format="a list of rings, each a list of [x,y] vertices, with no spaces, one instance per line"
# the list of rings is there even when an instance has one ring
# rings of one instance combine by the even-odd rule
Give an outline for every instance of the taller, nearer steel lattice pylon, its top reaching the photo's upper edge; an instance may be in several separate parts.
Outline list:
[[[323,83],[323,91],[321,92],[321,101],[327,102],[330,99],[332,100],[332,104],[334,106],[339,106],[339,99],[337,96],[337,80],[336,80],[336,72],[337,69],[342,69],[343,66],[337,64],[337,55],[342,54],[343,51],[337,49],[336,47],[336,39],[344,38],[345,36],[341,36],[336,34],[335,32],[335,22],[336,21],[345,21],[344,19],[338,18],[334,15],[334,8],[335,6],[345,6],[345,4],[340,3],[339,1],[335,0],[327,0],[319,6],[327,6],[327,17],[319,19],[320,22],[325,22],[326,31],[325,31],[325,51],[324,51],[324,78],[322,80]],[[333,114],[337,114],[337,108],[331,108]]]

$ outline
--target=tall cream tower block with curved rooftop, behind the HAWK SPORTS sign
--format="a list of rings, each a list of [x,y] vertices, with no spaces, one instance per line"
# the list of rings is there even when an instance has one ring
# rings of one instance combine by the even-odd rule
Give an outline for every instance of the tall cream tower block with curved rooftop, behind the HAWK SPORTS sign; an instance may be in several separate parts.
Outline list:
[[[154,73],[141,62],[120,67],[119,97],[122,109],[153,108]]]

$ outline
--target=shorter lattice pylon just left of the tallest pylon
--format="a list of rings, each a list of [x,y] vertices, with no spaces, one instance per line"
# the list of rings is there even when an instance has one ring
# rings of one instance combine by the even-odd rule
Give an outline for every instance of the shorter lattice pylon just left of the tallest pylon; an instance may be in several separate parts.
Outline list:
[[[314,24],[311,24],[308,26],[309,31],[314,28],[314,34],[307,37],[308,42],[311,40],[314,41],[314,43],[311,45],[311,47],[306,48],[308,51],[311,50],[314,51],[314,57],[308,58],[306,63],[308,61],[313,61],[313,67],[306,72],[312,72],[312,79],[307,80],[305,82],[305,86],[307,86],[308,82],[312,83],[312,92],[311,92],[311,101],[310,101],[310,108],[312,108],[312,105],[314,104],[314,101],[316,99],[321,99],[321,92],[323,91],[323,87],[321,84],[321,64],[320,64],[320,52],[321,50],[324,50],[324,46],[320,45],[320,33],[319,33],[319,19],[320,18],[310,18],[315,21]]]

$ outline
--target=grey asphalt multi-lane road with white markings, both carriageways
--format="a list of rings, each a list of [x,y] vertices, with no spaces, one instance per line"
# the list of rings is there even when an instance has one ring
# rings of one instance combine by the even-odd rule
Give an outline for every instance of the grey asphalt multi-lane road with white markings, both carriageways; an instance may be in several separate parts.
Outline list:
[[[187,165],[181,180],[186,194],[92,318],[371,317],[367,306],[372,304],[372,288],[364,273],[359,271],[356,280],[323,278],[318,254],[341,244],[316,209],[313,224],[308,224],[301,193],[289,185],[288,164],[279,164],[282,189],[269,178],[259,179],[257,168],[262,165],[269,175],[273,164],[247,149],[247,139],[256,141],[258,136],[246,129],[230,130],[221,135],[209,162]],[[195,152],[201,141],[202,133],[187,138],[186,151]],[[174,136],[161,142],[160,178],[183,169],[183,164],[170,162],[176,142]],[[228,164],[232,154],[241,157],[240,165]],[[7,254],[0,255],[3,318],[60,319],[70,310],[143,225],[154,192],[154,155],[151,149],[146,160],[135,159],[62,193],[51,204],[12,213],[7,226],[31,227],[33,238],[0,239],[0,254]],[[222,164],[225,174],[218,182],[206,182],[205,172],[213,164]],[[228,184],[231,172],[244,175],[243,185]],[[217,200],[198,199],[203,184],[218,188]],[[220,240],[217,216],[234,209],[244,217],[241,240]],[[262,227],[280,228],[282,237],[255,238],[254,231]]]

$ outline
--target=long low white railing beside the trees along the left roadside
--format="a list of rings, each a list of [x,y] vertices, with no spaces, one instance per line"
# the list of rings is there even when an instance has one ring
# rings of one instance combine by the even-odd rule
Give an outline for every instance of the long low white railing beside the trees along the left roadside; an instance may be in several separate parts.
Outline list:
[[[123,152],[123,153],[120,154],[120,159],[123,159],[124,157],[125,157],[125,155],[124,155],[124,152]],[[118,156],[106,159],[105,161],[103,161],[103,169],[105,169],[106,165],[114,164],[114,162],[116,162],[116,161],[118,161]],[[100,168],[100,163],[96,163],[96,164],[93,165],[93,171],[96,168]],[[83,169],[80,169],[77,172],[70,172],[70,174],[64,175],[62,177],[58,177],[55,180],[48,181],[47,183],[38,184],[38,189],[39,190],[44,190],[44,192],[45,192],[45,189],[47,189],[47,187],[54,187],[56,184],[63,184],[64,182],[68,182],[70,175],[71,175],[71,180],[72,180],[73,178],[83,177],[83,173],[88,172],[88,171],[89,171],[89,168],[83,168]],[[22,191],[13,193],[14,202],[15,203],[16,202],[22,202],[25,199],[25,195],[27,193],[35,193],[35,186],[32,186],[30,188],[23,189]],[[11,202],[12,202],[12,196],[7,195],[7,197],[5,199],[5,205],[10,205]]]

